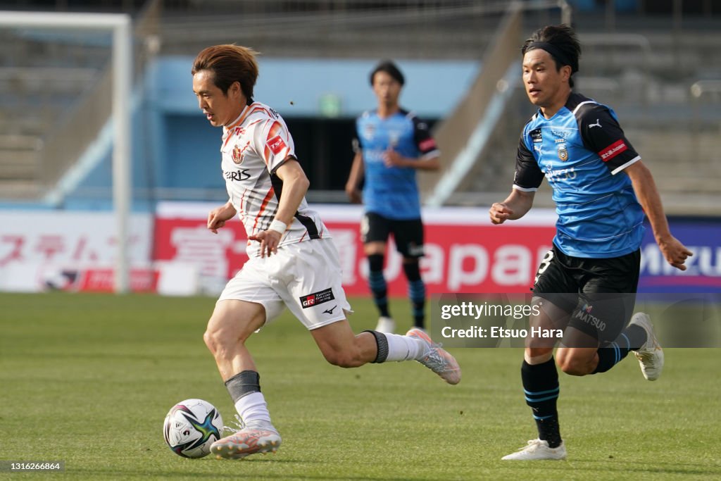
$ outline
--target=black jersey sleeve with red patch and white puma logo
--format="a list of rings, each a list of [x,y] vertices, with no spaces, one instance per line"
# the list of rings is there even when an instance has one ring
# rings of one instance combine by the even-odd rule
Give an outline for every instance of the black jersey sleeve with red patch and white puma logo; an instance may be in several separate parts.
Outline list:
[[[605,105],[585,104],[575,115],[583,146],[596,152],[611,172],[639,156]]]

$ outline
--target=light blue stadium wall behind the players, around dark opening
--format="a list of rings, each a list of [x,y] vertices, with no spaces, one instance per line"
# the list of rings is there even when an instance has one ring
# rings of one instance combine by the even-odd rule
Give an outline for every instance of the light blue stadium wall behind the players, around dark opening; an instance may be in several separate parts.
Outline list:
[[[159,58],[136,89],[131,149],[135,211],[152,211],[154,194],[163,190],[193,189],[193,195],[202,195],[204,190],[224,188],[219,172],[221,129],[209,125],[198,108],[190,76],[192,61],[185,56]],[[351,125],[353,118],[376,106],[368,81],[376,62],[261,57],[255,100],[278,110],[291,132],[293,124],[314,120],[345,120]],[[406,76],[402,106],[426,120],[448,115],[479,70],[479,63],[471,61],[397,63]],[[344,151],[335,154],[342,159],[333,168],[347,170],[352,131],[346,129],[342,136],[348,138],[327,140],[344,146]],[[295,138],[298,151],[310,151],[309,146],[298,145],[298,135]],[[94,159],[94,167],[66,195],[63,208],[111,208],[111,147],[108,144]]]

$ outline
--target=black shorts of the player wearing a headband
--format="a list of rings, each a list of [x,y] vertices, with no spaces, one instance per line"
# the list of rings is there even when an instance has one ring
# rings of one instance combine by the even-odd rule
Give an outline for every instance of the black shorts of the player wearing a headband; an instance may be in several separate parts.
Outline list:
[[[640,265],[641,250],[590,259],[565,255],[554,245],[536,272],[534,296],[569,313],[568,325],[600,345],[611,343],[633,314]]]

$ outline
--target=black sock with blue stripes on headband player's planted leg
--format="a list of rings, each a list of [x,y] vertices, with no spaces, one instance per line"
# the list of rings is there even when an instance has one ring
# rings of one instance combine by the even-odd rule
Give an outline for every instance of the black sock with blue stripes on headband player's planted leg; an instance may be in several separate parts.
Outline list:
[[[523,392],[526,394],[526,404],[533,410],[539,439],[547,441],[549,447],[558,447],[561,444],[556,409],[559,385],[558,371],[553,358],[541,364],[528,364],[523,360],[521,379]]]

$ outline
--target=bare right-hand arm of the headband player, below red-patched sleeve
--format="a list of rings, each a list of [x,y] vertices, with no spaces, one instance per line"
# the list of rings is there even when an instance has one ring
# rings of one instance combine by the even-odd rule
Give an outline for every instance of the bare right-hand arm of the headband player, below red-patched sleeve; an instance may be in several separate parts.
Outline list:
[[[666,262],[677,269],[686,270],[686,265],[684,265],[686,257],[693,253],[671,235],[656,182],[654,182],[650,170],[639,160],[626,167],[624,172],[631,177],[633,190],[648,217],[651,229],[653,229],[653,236]]]

